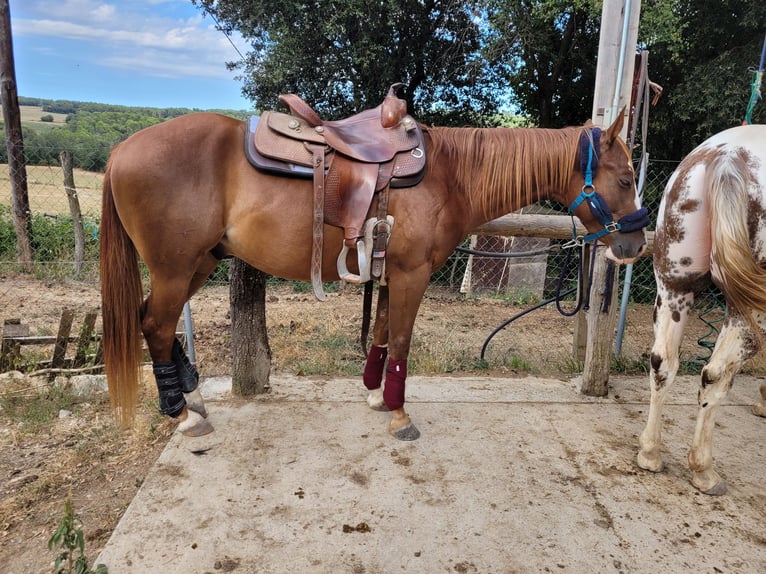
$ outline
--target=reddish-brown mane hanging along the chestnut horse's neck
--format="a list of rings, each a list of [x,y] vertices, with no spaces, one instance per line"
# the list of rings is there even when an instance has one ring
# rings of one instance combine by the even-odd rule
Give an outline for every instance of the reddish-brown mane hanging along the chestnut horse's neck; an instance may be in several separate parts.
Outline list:
[[[564,190],[577,159],[583,128],[427,128],[429,160],[446,158],[472,208],[506,213]]]

